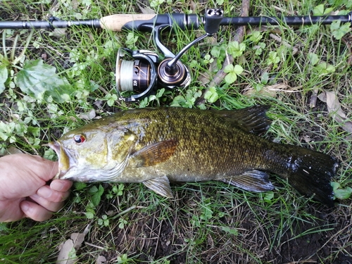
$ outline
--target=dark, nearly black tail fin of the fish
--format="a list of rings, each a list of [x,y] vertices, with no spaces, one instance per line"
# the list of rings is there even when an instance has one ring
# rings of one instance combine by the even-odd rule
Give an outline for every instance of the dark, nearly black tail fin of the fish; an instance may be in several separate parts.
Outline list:
[[[330,185],[334,177],[339,161],[329,155],[292,147],[289,172],[289,183],[305,196],[313,196],[313,199],[334,206],[334,192]]]

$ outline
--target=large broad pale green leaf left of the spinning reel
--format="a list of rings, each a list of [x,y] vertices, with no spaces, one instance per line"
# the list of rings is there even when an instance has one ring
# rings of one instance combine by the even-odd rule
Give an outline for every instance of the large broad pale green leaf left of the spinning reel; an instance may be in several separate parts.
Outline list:
[[[56,68],[42,60],[26,61],[17,74],[15,83],[23,93],[36,99],[51,96],[57,103],[63,103],[61,94],[72,94],[73,88],[64,77],[58,76]]]

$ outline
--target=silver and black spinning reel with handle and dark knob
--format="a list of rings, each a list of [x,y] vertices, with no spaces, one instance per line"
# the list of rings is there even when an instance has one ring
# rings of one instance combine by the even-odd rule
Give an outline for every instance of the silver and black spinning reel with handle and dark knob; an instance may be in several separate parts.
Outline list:
[[[206,34],[184,46],[177,55],[172,54],[161,43],[161,32],[170,25],[147,25],[153,32],[153,40],[163,53],[164,59],[161,61],[158,54],[153,51],[132,51],[120,48],[116,58],[115,73],[119,99],[127,102],[139,101],[160,87],[167,89],[187,87],[191,82],[191,75],[180,58],[191,46],[218,32],[223,15],[224,12],[221,9],[206,10],[203,18]],[[129,97],[122,96],[121,93],[127,91],[134,94]]]

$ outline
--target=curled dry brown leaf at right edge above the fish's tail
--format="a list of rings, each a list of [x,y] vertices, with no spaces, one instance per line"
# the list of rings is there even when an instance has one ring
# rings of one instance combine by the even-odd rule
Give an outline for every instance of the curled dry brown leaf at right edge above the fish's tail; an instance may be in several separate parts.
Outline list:
[[[348,118],[341,109],[339,99],[334,92],[322,92],[318,95],[320,101],[327,103],[327,111],[329,111],[332,118],[341,124],[341,127],[346,132],[352,132],[352,122],[347,121]]]

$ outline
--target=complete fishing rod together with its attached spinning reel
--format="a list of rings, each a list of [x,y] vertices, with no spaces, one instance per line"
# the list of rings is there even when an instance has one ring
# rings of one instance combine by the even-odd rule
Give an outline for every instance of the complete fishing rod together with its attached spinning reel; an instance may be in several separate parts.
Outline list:
[[[127,102],[138,101],[149,96],[156,89],[184,88],[191,83],[189,69],[180,61],[180,57],[194,44],[206,37],[216,34],[221,25],[329,25],[334,21],[351,23],[352,12],[348,15],[304,15],[282,16],[281,18],[266,16],[224,17],[222,9],[207,9],[204,15],[170,13],[170,14],[115,14],[100,19],[60,20],[55,17],[49,20],[0,21],[3,29],[49,29],[66,27],[90,27],[113,31],[151,32],[158,49],[163,53],[161,59],[156,52],[126,48],[118,49],[116,58],[116,90],[119,99]],[[198,30],[204,27],[206,34],[187,44],[177,55],[173,54],[161,42],[163,30]],[[132,59],[132,61],[131,61]],[[132,92],[130,96],[122,96],[122,92]]]

